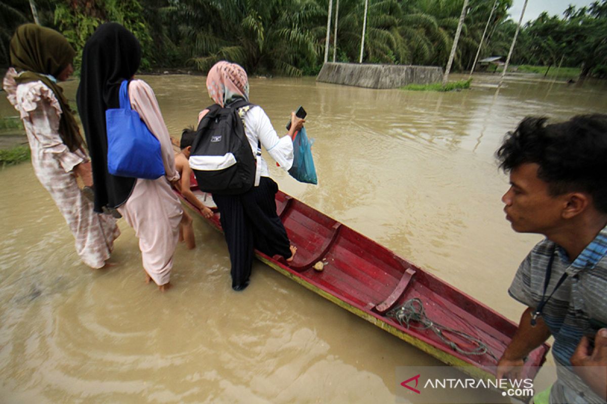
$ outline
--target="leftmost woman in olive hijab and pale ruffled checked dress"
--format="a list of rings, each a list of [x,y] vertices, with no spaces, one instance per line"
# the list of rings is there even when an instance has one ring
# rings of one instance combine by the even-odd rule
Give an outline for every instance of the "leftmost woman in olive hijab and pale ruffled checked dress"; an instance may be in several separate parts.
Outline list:
[[[3,87],[21,116],[36,177],[49,191],[75,237],[86,265],[106,265],[120,230],[113,217],[93,211],[76,175],[92,185],[90,159],[63,89],[75,51],[63,35],[35,24],[21,25],[10,41],[10,67]]]

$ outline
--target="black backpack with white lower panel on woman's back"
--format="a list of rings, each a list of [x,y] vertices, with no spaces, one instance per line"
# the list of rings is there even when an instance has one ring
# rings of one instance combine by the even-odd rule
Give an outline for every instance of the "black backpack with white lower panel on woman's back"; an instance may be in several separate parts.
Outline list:
[[[243,99],[226,107],[206,109],[192,144],[189,165],[202,191],[234,195],[248,191],[255,182],[256,156],[245,134],[243,117],[253,104]],[[257,153],[261,154],[259,141]]]

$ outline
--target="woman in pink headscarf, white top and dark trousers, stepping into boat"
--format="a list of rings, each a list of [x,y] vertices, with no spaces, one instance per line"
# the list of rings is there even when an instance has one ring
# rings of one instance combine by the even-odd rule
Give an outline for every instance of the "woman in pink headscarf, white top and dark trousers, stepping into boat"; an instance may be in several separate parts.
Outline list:
[[[235,63],[221,61],[211,67],[206,78],[206,88],[209,96],[220,107],[229,106],[241,99],[249,101],[246,71]],[[291,113],[290,133],[279,137],[261,107],[249,104],[240,110],[244,112],[242,121],[251,151],[257,151],[260,144],[281,168],[291,168],[291,136],[302,127],[304,120]],[[198,119],[202,119],[207,112],[208,110],[202,111]],[[259,185],[242,194],[213,195],[228,244],[232,289],[235,291],[243,290],[249,284],[254,250],[270,257],[282,256],[287,262],[291,262],[296,253],[296,248],[290,244],[287,231],[276,214],[278,185],[270,178],[268,165],[260,155],[256,169]]]

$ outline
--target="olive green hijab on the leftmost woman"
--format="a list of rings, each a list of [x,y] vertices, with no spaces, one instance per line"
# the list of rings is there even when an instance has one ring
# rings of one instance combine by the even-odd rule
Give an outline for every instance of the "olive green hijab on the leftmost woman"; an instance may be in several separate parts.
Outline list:
[[[41,81],[55,93],[63,111],[59,134],[70,151],[80,148],[84,141],[63,89],[48,76],[56,78],[74,55],[76,51],[63,35],[36,24],[21,25],[10,40],[10,64],[20,72],[15,81],[18,84]]]

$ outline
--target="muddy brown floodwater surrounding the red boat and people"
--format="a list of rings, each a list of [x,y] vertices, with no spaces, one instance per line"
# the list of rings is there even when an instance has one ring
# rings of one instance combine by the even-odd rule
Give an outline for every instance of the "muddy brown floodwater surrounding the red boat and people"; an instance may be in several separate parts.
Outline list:
[[[141,78],[173,136],[211,104],[202,76]],[[520,76],[497,93],[493,80],[430,93],[252,78],[251,102],[280,134],[291,110],[308,111],[319,185],[268,164],[280,189],[518,322],[507,288],[540,236],[504,219],[493,153],[524,116],[605,113],[607,86]],[[4,96],[0,114],[14,116]],[[160,293],[124,220],[117,265],[90,270],[29,163],[0,170],[0,185],[1,402],[392,403],[398,366],[439,365],[260,262],[235,293],[223,236],[202,219]]]

